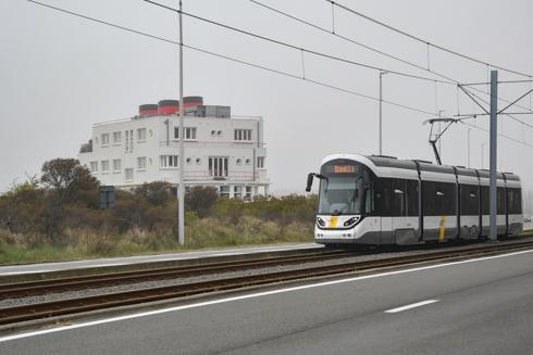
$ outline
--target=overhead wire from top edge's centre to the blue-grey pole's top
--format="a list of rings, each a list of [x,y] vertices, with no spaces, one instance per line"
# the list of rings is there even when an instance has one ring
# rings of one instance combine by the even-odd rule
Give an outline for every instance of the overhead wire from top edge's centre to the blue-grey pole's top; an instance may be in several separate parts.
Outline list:
[[[258,1],[258,0],[248,0],[248,1],[250,1],[251,3],[253,3],[253,4],[258,5],[258,7],[264,8],[264,9],[266,9],[266,10],[270,10],[270,11],[274,12],[274,13],[277,13],[277,14],[280,14],[280,15],[283,15],[283,16],[285,16],[285,17],[288,17],[288,18],[290,18],[290,20],[293,20],[293,21],[296,21],[296,22],[298,22],[298,23],[301,23],[301,24],[305,24],[305,25],[307,25],[307,26],[310,26],[310,27],[312,27],[312,28],[314,28],[314,29],[318,29],[318,30],[321,30],[321,31],[323,31],[323,33],[326,33],[326,34],[333,35],[333,36],[335,36],[335,37],[337,37],[337,38],[339,38],[339,39],[343,39],[343,40],[345,40],[345,41],[347,41],[347,42],[350,42],[350,43],[352,43],[352,45],[357,45],[357,46],[359,46],[359,47],[362,47],[362,48],[364,48],[364,49],[367,49],[367,50],[373,51],[373,52],[375,52],[375,53],[377,53],[377,54],[384,55],[384,56],[386,56],[386,58],[389,58],[389,59],[395,60],[395,61],[397,61],[397,62],[400,62],[400,63],[402,63],[402,64],[410,65],[410,66],[412,66],[412,67],[414,67],[414,68],[421,69],[421,71],[425,71],[425,72],[429,72],[429,73],[431,73],[431,74],[433,74],[433,75],[435,75],[435,76],[437,76],[437,77],[441,77],[441,78],[445,79],[446,81],[453,81],[453,83],[455,83],[455,84],[457,84],[457,85],[464,85],[464,84],[461,84],[459,80],[454,79],[453,77],[450,77],[450,76],[448,76],[448,75],[446,75],[446,74],[439,73],[439,72],[437,72],[437,71],[435,71],[435,69],[433,69],[433,68],[431,68],[431,67],[429,66],[429,63],[430,63],[430,58],[429,58],[430,52],[429,52],[429,49],[427,49],[427,66],[422,66],[422,65],[419,65],[419,64],[413,63],[413,62],[411,62],[411,61],[408,61],[408,60],[401,59],[401,58],[399,58],[399,56],[397,56],[397,55],[394,55],[394,54],[387,53],[387,52],[385,52],[385,51],[383,51],[383,50],[380,50],[380,49],[377,49],[377,48],[375,48],[375,47],[372,47],[372,46],[369,46],[369,45],[362,43],[361,41],[355,40],[355,39],[354,39],[354,38],[351,38],[351,37],[343,36],[343,35],[340,35],[340,34],[338,34],[338,31],[333,33],[332,30],[329,30],[329,29],[327,29],[327,28],[325,28],[325,27],[319,26],[319,25],[313,24],[313,23],[311,23],[311,22],[309,22],[309,21],[306,21],[306,20],[303,20],[303,18],[301,18],[301,17],[298,17],[298,16],[295,16],[295,15],[293,15],[293,14],[289,14],[289,13],[288,13],[288,12],[286,12],[286,11],[282,11],[282,10],[280,10],[280,9],[276,9],[276,8],[273,8],[273,7],[268,5],[268,4],[265,4],[265,3],[262,3],[261,1]],[[332,2],[332,1],[330,1],[330,2]],[[334,7],[334,3],[333,3],[333,2],[332,2],[332,7]],[[488,75],[489,75],[489,67],[487,66],[487,77],[488,77]],[[532,77],[530,76],[530,80],[531,80],[531,78],[532,78]],[[524,80],[524,81],[530,81],[530,80]],[[515,81],[519,81],[519,80],[515,80]],[[500,83],[507,83],[507,81],[500,81]],[[489,83],[486,83],[486,84],[488,85]],[[488,92],[488,89],[487,89],[487,91],[484,91],[484,90],[481,90],[481,89],[478,89],[478,88],[472,88],[472,90],[475,90],[475,91],[478,91],[478,92],[480,92],[480,93],[484,93],[484,94],[486,94],[486,96],[491,96],[491,93]],[[497,99],[498,99],[498,100],[500,100],[500,101],[503,101],[503,102],[506,102],[506,103],[511,102],[510,100],[505,99],[505,98],[503,98],[503,97],[498,97]],[[531,99],[531,98],[530,98],[530,99]],[[517,105],[517,107],[520,107],[520,109],[523,109],[523,110],[528,110],[526,107],[521,106],[521,105]],[[530,109],[530,110],[531,110],[531,109]]]

